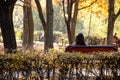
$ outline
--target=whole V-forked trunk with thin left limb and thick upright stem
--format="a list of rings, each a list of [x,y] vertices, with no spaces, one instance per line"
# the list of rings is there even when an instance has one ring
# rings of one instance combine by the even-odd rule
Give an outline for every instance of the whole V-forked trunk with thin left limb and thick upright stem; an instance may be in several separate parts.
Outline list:
[[[46,22],[42,13],[42,8],[39,0],[35,0],[39,17],[43,25],[44,29],[44,51],[48,50],[49,48],[53,48],[53,5],[52,0],[46,0]]]

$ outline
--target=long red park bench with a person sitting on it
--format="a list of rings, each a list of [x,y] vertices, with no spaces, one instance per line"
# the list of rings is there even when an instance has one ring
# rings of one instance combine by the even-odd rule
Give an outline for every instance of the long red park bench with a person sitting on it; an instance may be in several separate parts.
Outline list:
[[[114,45],[69,45],[66,47],[65,52],[116,52],[118,47]]]

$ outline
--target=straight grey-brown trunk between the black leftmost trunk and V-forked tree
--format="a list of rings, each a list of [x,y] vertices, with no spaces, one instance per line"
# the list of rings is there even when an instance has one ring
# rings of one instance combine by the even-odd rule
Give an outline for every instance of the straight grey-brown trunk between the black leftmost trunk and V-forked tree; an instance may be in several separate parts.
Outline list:
[[[33,49],[33,33],[34,33],[34,23],[32,18],[32,8],[31,8],[31,0],[25,0],[25,4],[29,6],[24,6],[24,28],[23,28],[23,48],[25,50]]]

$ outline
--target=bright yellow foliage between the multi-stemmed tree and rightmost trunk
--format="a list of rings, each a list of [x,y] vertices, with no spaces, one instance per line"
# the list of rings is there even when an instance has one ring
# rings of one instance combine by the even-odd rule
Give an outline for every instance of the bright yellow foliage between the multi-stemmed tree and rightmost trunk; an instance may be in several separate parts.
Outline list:
[[[82,0],[79,2],[79,9],[83,8],[85,6],[89,6],[90,4],[92,4],[94,2],[95,2],[95,0]],[[105,0],[97,0],[94,4],[92,4],[91,6],[85,8],[81,11],[79,11],[80,16],[81,15],[86,16],[86,12],[87,12],[87,14],[88,14],[88,12],[91,12],[93,14],[96,14],[96,15],[99,15],[102,17],[107,17],[107,15],[108,15],[108,2]]]

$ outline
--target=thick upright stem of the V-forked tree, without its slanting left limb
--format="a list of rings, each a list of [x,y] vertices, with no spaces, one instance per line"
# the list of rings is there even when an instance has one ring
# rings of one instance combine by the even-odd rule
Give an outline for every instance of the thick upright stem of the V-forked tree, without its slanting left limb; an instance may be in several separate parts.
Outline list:
[[[44,31],[45,36],[45,46],[44,49],[48,50],[53,48],[53,5],[52,0],[46,1],[46,12],[47,12],[47,24]]]

